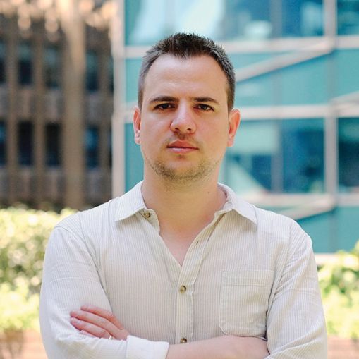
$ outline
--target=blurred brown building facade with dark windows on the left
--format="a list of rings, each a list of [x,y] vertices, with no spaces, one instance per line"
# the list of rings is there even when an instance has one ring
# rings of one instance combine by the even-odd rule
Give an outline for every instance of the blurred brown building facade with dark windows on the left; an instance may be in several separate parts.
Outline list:
[[[109,27],[87,21],[102,3],[0,3],[1,205],[111,197]]]

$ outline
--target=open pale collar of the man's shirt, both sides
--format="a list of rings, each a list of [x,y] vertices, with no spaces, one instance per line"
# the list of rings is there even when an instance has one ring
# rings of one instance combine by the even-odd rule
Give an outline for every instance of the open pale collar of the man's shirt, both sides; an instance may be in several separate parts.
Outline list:
[[[117,198],[118,206],[116,209],[115,220],[121,221],[133,214],[140,212],[141,210],[147,209],[141,192],[142,181],[137,183],[135,187],[129,190],[127,193]],[[236,193],[229,188],[227,185],[219,183],[219,187],[226,194],[226,203],[223,209],[217,212],[217,214],[230,212],[234,210],[240,216],[249,219],[254,224],[257,224],[257,217],[255,215],[255,209],[250,203],[241,200]]]

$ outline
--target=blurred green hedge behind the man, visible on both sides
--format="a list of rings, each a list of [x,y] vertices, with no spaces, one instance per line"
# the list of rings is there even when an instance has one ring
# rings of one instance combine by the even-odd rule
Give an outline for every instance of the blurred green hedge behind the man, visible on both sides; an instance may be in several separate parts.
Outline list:
[[[0,209],[0,331],[35,325],[47,239],[71,213]],[[319,278],[329,335],[359,338],[359,241],[325,264]]]

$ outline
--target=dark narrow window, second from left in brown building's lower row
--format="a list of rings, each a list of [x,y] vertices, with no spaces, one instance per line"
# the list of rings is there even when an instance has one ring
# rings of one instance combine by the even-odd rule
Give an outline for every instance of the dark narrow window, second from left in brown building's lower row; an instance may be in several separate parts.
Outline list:
[[[33,132],[34,128],[31,122],[18,123],[18,164],[24,166],[33,164]]]

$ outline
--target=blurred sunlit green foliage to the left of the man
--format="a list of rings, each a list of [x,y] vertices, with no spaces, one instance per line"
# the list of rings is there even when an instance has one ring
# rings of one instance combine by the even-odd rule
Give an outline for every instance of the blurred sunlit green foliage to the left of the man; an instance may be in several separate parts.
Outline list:
[[[38,327],[44,250],[55,224],[72,212],[0,209],[0,334]]]

